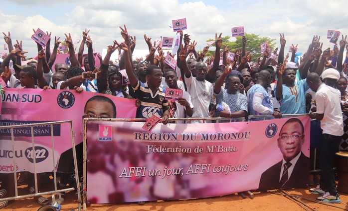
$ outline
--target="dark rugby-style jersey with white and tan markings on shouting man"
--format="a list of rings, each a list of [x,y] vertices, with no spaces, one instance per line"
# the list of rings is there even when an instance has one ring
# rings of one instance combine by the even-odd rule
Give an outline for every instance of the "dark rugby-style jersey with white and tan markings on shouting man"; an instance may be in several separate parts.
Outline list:
[[[168,100],[165,99],[166,89],[159,87],[155,95],[153,95],[148,83],[143,83],[139,80],[133,89],[135,98],[141,101],[137,118],[150,119],[153,115],[162,118],[163,113],[168,110]]]

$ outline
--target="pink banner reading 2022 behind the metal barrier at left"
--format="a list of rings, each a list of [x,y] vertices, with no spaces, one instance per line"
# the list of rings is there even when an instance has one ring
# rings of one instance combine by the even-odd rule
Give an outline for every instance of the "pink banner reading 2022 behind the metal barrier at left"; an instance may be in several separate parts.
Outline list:
[[[84,107],[86,101],[95,95],[110,98],[116,105],[117,118],[135,118],[135,100],[92,92],[77,93],[75,90],[6,89],[2,97],[0,126],[25,125],[30,123],[72,120],[75,143],[83,141]],[[32,152],[31,131],[29,127],[13,130],[15,151],[12,151],[10,129],[0,129],[0,173],[13,172],[13,156],[16,171],[33,172],[33,154],[36,154],[36,170],[71,171],[72,157],[60,161],[60,155],[71,151],[70,124],[53,126],[55,164],[52,163],[51,130],[48,126],[34,127],[35,153]],[[81,145],[81,144],[80,144]],[[67,153],[69,154],[69,153]],[[82,154],[78,159],[82,159]]]

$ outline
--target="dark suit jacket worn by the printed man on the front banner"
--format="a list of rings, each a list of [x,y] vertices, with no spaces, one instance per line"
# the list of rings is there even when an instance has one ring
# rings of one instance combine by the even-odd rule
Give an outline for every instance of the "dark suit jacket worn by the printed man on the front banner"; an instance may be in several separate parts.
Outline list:
[[[280,171],[282,168],[282,160],[271,166],[262,173],[260,179],[259,190],[280,189]],[[289,180],[284,184],[285,188],[302,188],[306,187],[309,176],[309,157],[306,157],[302,152],[297,160],[294,170],[292,171]]]

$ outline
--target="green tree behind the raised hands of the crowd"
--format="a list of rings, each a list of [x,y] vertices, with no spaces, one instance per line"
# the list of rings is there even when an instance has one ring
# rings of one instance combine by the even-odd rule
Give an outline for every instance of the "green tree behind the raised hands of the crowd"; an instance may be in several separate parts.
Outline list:
[[[259,37],[259,35],[257,34],[247,34],[245,33],[245,37],[247,39],[247,43],[246,43],[246,50],[249,51],[252,54],[251,60],[252,61],[256,61],[257,58],[259,58],[262,54],[261,52],[261,47],[260,45],[265,43],[266,40],[268,41],[268,45],[270,48],[272,48],[274,50],[275,47],[275,39],[271,39],[269,37]],[[243,47],[242,44],[242,36],[238,36],[236,37],[236,41],[229,41],[231,37],[230,36],[225,36],[222,37],[222,48],[221,48],[221,52],[223,50],[223,46],[227,45],[228,49],[230,52],[235,52],[235,50],[237,48],[241,49]],[[212,41],[213,39],[209,39],[207,40],[207,42]],[[215,46],[215,44],[212,44],[212,46]],[[208,51],[208,53],[206,53],[205,56],[212,56],[215,54],[215,51]]]

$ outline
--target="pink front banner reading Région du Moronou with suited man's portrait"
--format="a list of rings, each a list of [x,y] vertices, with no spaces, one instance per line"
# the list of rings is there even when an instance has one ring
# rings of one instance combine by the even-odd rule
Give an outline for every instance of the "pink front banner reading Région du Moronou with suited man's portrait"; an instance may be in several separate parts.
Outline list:
[[[87,124],[90,203],[204,198],[308,181],[309,117],[158,124],[151,133],[143,125]],[[284,171],[283,162],[292,167]]]

